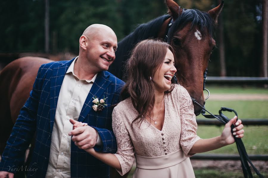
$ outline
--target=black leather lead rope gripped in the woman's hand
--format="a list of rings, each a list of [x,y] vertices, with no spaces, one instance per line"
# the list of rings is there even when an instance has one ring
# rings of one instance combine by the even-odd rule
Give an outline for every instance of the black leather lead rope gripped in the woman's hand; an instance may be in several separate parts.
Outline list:
[[[202,107],[197,101],[196,99],[194,98],[191,98],[193,103],[194,104],[197,104],[198,106],[200,106],[203,110],[202,110],[202,115],[205,117],[205,118],[216,118],[218,119],[219,121],[223,122],[224,124],[226,124],[227,122],[229,122],[229,118],[226,117],[222,111],[228,111],[228,112],[234,112],[237,116],[237,113],[235,110],[233,109],[230,109],[230,108],[227,108],[227,107],[221,107],[221,109],[219,110],[219,115],[214,115],[214,114],[211,114],[208,110],[206,110],[204,107]],[[208,112],[210,115],[205,115],[205,112]],[[233,134],[233,128],[235,126],[232,125],[231,126],[231,132]],[[240,155],[240,160],[241,160],[241,165],[242,165],[242,170],[243,170],[243,174],[244,174],[244,177],[247,178],[247,177],[250,177],[250,178],[253,178],[253,175],[251,173],[251,170],[250,170],[250,166],[248,163],[250,163],[250,165],[252,166],[253,170],[256,172],[256,174],[261,177],[261,178],[264,178],[263,175],[261,175],[261,173],[258,171],[257,168],[255,168],[255,166],[252,164],[250,158],[248,157],[247,155],[247,151],[245,149],[245,146],[244,146],[244,143],[242,142],[241,138],[236,138],[235,135],[233,135],[233,138],[236,142],[236,147],[238,149],[238,152],[239,152],[239,155]]]

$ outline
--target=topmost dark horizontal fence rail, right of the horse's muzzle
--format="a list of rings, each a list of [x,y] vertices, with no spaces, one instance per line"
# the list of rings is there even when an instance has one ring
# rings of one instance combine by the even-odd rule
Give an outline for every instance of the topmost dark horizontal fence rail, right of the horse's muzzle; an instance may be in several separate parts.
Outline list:
[[[254,84],[268,84],[268,77],[234,77],[234,76],[226,76],[226,77],[219,77],[219,76],[208,76],[207,77],[207,84],[211,83],[254,83]]]

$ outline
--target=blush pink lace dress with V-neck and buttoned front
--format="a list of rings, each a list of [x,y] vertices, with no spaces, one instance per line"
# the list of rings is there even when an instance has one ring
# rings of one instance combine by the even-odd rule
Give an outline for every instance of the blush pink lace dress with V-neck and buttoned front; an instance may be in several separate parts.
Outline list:
[[[131,123],[138,115],[131,99],[120,102],[113,110],[113,132],[117,141],[116,157],[126,174],[136,158],[133,177],[173,178],[195,177],[188,154],[200,138],[196,135],[197,123],[191,98],[185,88],[175,85],[164,95],[165,119],[158,130],[146,119]]]

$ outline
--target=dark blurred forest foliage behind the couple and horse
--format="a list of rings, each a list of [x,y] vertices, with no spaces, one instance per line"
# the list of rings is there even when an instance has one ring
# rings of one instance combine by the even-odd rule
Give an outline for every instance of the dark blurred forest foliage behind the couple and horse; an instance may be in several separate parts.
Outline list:
[[[218,0],[177,0],[183,8],[207,11]],[[0,53],[44,52],[45,2],[0,2]],[[78,53],[78,39],[93,23],[106,24],[122,39],[138,24],[165,14],[164,0],[49,1],[50,52]],[[225,1],[222,11],[228,76],[258,76],[261,64],[261,0]],[[217,30],[215,37],[217,41]],[[219,50],[211,56],[209,76],[219,75]]]

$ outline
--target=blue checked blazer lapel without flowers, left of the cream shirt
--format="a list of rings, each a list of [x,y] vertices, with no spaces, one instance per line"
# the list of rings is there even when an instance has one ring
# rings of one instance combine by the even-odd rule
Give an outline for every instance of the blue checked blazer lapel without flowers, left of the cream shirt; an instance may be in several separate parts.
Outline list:
[[[51,132],[53,129],[57,103],[58,103],[58,98],[60,94],[60,88],[61,88],[64,76],[74,59],[68,61],[65,64],[60,64],[58,65],[58,67],[53,68],[52,77],[50,79],[50,131]]]

